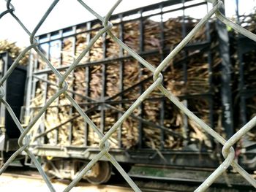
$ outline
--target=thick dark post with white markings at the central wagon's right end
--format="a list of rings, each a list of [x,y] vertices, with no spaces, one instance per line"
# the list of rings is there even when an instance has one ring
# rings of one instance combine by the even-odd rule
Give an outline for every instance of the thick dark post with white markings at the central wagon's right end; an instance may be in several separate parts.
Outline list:
[[[225,10],[220,9],[224,14]],[[229,39],[226,26],[217,20],[217,32],[219,37],[219,54],[222,58],[222,125],[225,128],[227,139],[233,136],[233,107],[232,107],[232,88],[231,88],[231,64]]]

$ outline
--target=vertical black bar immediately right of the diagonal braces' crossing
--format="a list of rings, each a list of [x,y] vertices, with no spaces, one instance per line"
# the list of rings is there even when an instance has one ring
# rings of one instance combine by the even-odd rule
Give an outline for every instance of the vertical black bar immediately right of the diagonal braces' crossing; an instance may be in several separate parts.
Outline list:
[[[122,23],[123,20],[123,15],[119,15],[120,18],[120,24],[119,24],[119,39],[123,42],[124,40],[124,24]],[[124,56],[124,49],[120,46],[119,48],[119,57],[123,57]],[[120,66],[119,66],[119,80],[120,80],[120,84],[119,84],[119,91],[123,91],[124,90],[124,61],[121,60],[120,61]],[[123,100],[123,96],[120,96],[120,100]],[[123,109],[123,104],[120,103],[119,104],[120,109]],[[118,119],[121,118],[122,113],[118,112]],[[122,133],[122,124],[121,126],[118,128],[118,147],[122,147],[122,143],[121,143],[121,133]]]

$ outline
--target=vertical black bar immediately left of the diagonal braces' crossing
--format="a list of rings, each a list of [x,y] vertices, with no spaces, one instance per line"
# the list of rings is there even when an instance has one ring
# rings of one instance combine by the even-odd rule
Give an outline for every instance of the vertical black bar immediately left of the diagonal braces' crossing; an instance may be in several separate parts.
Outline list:
[[[86,29],[89,30],[91,29],[91,22],[88,22],[86,23]],[[87,34],[87,37],[86,37],[86,44],[88,45],[89,42],[91,40],[91,33],[88,32]],[[90,52],[88,53],[88,55],[90,54]],[[89,88],[90,88],[90,75],[91,75],[91,72],[90,72],[90,67],[89,66],[86,66],[86,96],[89,96]],[[85,110],[87,110],[88,107],[86,106]],[[84,145],[85,146],[88,146],[89,145],[89,142],[88,142],[88,134],[89,134],[89,126],[88,126],[88,123],[84,123]]]

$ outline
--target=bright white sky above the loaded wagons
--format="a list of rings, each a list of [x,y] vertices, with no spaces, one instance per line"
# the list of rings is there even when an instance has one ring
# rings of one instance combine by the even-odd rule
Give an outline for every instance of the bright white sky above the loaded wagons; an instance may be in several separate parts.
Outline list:
[[[143,7],[159,1],[163,0],[123,0],[114,13]],[[23,24],[29,28],[29,31],[34,29],[52,2],[53,0],[12,0],[12,4],[15,7],[15,15],[17,15]],[[84,2],[99,13],[99,15],[105,16],[116,0],[84,0]],[[251,12],[252,8],[256,6],[256,0],[240,0],[240,2],[240,14]],[[234,15],[236,13],[235,3],[236,0],[225,0],[227,15]],[[6,1],[0,0],[0,12],[3,12],[5,9]],[[206,7],[200,9],[188,9],[186,15],[198,18],[205,15],[206,11]],[[181,15],[181,12],[173,12],[166,15],[166,17],[175,17],[177,15]],[[37,32],[37,35],[93,19],[95,19],[95,17],[83,8],[78,1],[61,0],[50,13],[47,20],[45,20],[45,23],[43,23],[42,27]],[[10,14],[4,15],[4,17],[0,19],[0,39],[9,39],[12,42],[18,42],[18,45],[20,46],[29,44],[28,35],[26,35],[23,29],[20,28]]]

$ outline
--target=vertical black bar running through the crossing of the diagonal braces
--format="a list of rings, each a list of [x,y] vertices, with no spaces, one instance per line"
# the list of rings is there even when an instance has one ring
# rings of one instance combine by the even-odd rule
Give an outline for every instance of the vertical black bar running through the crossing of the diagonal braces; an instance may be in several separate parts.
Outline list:
[[[103,49],[103,60],[106,58],[107,53],[107,45],[106,45],[106,34],[102,35],[102,49]],[[105,101],[105,93],[106,93],[106,86],[107,86],[107,78],[106,78],[106,71],[107,66],[105,64],[102,64],[102,95],[100,100],[102,101],[102,104],[100,105],[100,130],[102,133],[105,129],[105,104],[103,103]]]

